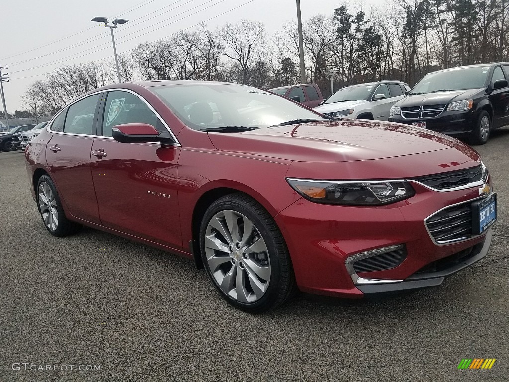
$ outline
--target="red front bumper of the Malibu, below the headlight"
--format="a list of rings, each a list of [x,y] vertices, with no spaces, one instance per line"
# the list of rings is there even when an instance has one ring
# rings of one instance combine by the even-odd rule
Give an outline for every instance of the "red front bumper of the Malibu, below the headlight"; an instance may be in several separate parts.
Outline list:
[[[444,207],[479,199],[479,187],[441,193],[412,186],[414,197],[387,206],[332,206],[301,199],[281,211],[275,219],[290,250],[300,290],[362,298],[421,289],[440,285],[446,276],[486,256],[491,231],[438,244],[425,223]],[[352,275],[349,258],[397,245],[406,249],[397,266]]]

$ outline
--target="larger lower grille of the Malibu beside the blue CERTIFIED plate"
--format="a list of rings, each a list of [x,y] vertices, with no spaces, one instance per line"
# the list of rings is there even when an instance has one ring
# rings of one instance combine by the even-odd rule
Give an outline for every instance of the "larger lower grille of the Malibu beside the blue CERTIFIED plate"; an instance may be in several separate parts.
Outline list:
[[[426,226],[439,244],[472,237],[471,201],[445,208],[426,220]]]

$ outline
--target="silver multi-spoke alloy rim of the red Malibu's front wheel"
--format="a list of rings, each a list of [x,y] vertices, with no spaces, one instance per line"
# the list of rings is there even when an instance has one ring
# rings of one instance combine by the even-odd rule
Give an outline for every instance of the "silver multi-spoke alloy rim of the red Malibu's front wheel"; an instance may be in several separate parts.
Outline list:
[[[267,292],[271,275],[267,244],[243,214],[223,210],[212,217],[205,254],[214,281],[231,298],[254,303]]]

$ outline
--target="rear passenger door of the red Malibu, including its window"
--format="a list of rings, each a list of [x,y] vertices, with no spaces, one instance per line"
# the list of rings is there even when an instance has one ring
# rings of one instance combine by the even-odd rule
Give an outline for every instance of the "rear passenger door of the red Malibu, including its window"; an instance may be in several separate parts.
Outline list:
[[[46,161],[60,198],[78,219],[100,224],[90,169],[100,93],[66,107],[49,127]]]

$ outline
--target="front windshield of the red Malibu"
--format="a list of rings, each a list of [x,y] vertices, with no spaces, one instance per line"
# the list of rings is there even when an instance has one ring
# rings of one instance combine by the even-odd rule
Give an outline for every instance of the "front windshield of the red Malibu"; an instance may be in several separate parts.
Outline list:
[[[245,85],[166,85],[150,89],[195,130],[265,128],[293,120],[325,120],[295,102]]]

